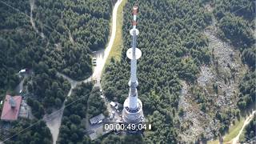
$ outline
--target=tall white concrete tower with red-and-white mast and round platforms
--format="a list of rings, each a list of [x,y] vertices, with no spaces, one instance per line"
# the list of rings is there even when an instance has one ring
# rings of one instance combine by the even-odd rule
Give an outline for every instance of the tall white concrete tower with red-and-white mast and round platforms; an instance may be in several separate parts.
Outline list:
[[[122,120],[125,123],[134,123],[138,124],[143,122],[144,115],[142,111],[142,102],[138,99],[138,79],[136,77],[137,71],[137,59],[142,56],[142,51],[136,48],[136,38],[138,36],[138,30],[136,29],[137,25],[137,13],[138,6],[133,7],[133,29],[130,30],[130,35],[132,35],[132,47],[127,50],[126,56],[130,58],[130,81],[128,85],[130,86],[129,96],[126,98],[126,101],[123,104],[122,110]]]

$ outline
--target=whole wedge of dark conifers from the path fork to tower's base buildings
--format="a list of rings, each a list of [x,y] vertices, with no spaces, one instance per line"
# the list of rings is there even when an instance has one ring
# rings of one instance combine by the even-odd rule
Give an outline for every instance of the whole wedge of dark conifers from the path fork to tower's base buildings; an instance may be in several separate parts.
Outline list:
[[[74,89],[65,105],[58,143],[90,143],[90,138],[85,135],[86,118],[90,119],[101,113],[105,116],[108,114],[99,90],[93,88],[91,83],[82,83]]]

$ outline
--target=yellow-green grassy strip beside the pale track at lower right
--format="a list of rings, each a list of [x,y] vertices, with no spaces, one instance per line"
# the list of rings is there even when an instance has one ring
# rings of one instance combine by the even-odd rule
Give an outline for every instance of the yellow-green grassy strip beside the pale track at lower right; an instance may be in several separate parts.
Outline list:
[[[230,126],[229,132],[224,136],[224,142],[230,142],[230,140],[238,135],[242,129],[243,122],[245,122],[245,118],[241,118],[240,121],[236,120],[235,124]]]

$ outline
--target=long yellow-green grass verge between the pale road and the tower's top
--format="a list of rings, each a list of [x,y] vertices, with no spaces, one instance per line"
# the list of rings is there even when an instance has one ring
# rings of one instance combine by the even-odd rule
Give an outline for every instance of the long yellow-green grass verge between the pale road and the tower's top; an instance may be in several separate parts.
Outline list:
[[[126,4],[127,0],[122,0],[122,3],[118,6],[118,14],[117,14],[117,30],[114,38],[114,44],[110,50],[109,57],[106,60],[106,65],[109,64],[110,58],[114,58],[115,61],[121,60],[122,54],[122,22],[123,22],[123,8]]]

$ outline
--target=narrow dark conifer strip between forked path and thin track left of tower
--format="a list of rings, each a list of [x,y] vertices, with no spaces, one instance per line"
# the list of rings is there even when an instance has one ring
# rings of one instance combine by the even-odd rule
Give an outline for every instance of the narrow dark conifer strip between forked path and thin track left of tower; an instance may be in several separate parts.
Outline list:
[[[86,118],[86,103],[91,89],[91,84],[82,84],[65,102],[66,108],[63,112],[58,143],[90,141],[90,138],[84,136],[86,127],[82,123],[82,119]],[[69,106],[71,102],[75,102],[75,104]]]

